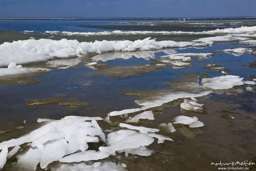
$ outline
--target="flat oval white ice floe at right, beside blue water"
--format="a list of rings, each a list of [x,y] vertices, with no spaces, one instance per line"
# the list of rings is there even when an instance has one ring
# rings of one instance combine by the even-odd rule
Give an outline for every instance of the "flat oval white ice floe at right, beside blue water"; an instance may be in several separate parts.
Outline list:
[[[202,84],[212,89],[229,89],[236,85],[243,85],[243,79],[244,78],[240,78],[239,76],[235,75],[225,75],[213,78],[203,78]]]

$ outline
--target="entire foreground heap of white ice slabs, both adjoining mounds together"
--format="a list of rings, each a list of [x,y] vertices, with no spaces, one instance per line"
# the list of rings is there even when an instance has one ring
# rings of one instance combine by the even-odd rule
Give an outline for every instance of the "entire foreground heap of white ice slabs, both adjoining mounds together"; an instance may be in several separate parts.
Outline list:
[[[148,156],[153,151],[146,146],[154,142],[154,138],[158,139],[158,143],[164,140],[172,141],[169,137],[155,134],[158,129],[125,123],[119,125],[128,129],[111,132],[105,140],[105,134],[96,120],[102,118],[67,116],[61,120],[38,119],[38,122],[44,123],[41,128],[20,138],[0,143],[0,168],[3,168],[6,160],[13,156],[17,157],[18,167],[26,170],[35,170],[38,164],[41,168],[47,168],[47,165],[54,161],[73,163],[100,160],[115,155],[116,152],[125,152],[126,156]],[[88,150],[89,142],[97,143],[100,140],[108,146],[99,147],[99,151]],[[19,145],[27,142],[27,149],[19,150]],[[14,148],[8,153],[9,147]],[[20,152],[17,153],[18,151]],[[95,162],[90,167],[100,169],[103,166],[104,163]],[[62,165],[60,167],[62,168]]]

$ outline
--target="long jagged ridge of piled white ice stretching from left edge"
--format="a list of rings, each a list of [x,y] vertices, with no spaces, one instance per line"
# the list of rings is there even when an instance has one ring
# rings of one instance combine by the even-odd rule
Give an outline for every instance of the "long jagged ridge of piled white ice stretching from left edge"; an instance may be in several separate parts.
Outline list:
[[[81,42],[77,40],[18,40],[0,45],[0,66],[9,63],[29,63],[45,61],[54,57],[67,58],[87,53],[102,53],[109,51],[155,50],[161,48],[181,48],[193,46],[193,42],[175,42],[171,40],[156,41],[150,37],[144,40],[119,40]],[[205,43],[207,45],[207,43]]]

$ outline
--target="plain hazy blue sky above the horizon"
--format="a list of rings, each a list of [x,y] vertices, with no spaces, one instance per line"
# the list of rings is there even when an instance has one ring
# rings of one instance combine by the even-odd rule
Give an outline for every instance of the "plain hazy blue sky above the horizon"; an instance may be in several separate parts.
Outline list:
[[[256,0],[0,0],[0,17],[256,16]]]

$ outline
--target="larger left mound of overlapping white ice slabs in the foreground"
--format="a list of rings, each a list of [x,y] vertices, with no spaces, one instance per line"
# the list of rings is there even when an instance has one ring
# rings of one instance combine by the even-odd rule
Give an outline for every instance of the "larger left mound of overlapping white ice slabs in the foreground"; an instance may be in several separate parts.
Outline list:
[[[90,120],[92,123],[88,122]],[[21,167],[35,170],[40,162],[41,168],[45,168],[49,163],[61,160],[67,154],[87,149],[87,142],[99,142],[96,136],[105,141],[105,135],[102,136],[96,120],[102,118],[64,117],[61,120],[45,121],[47,124],[23,137],[1,142],[0,149],[32,142],[29,151],[18,154],[17,163]],[[17,151],[17,147],[14,149],[12,153]]]

